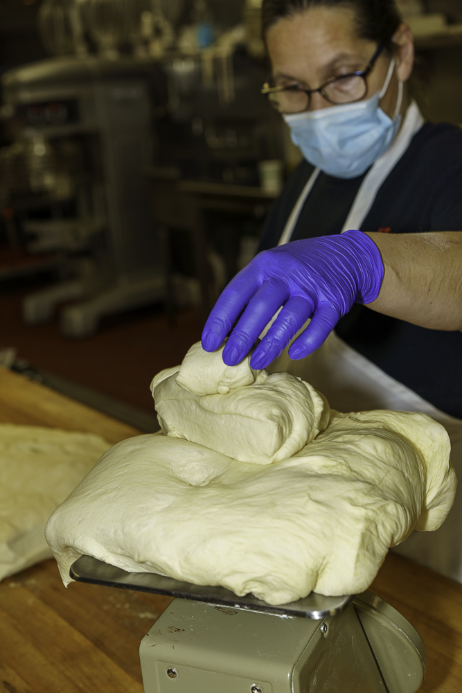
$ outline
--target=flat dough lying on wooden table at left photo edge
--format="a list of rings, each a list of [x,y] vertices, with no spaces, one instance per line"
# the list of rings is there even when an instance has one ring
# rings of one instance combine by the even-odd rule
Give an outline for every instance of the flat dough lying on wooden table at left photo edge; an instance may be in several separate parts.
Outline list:
[[[100,436],[0,423],[0,580],[51,558],[51,512],[109,448]]]

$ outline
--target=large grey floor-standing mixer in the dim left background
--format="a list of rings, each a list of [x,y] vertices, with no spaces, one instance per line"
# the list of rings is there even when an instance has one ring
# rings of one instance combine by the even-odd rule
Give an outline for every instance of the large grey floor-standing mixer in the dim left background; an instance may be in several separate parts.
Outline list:
[[[62,332],[82,337],[96,330],[103,315],[164,297],[161,245],[150,222],[145,177],[152,160],[151,69],[143,60],[69,56],[3,74],[3,112],[9,114],[16,146],[29,157],[33,193],[45,193],[48,182],[56,195],[55,184],[71,179],[76,199],[73,218],[26,222],[26,232],[35,236],[29,249],[96,248],[80,277],[26,299],[28,324],[50,319],[63,301],[84,299],[60,314]],[[69,164],[75,148],[86,163],[63,176],[55,155],[64,152],[61,158]]]

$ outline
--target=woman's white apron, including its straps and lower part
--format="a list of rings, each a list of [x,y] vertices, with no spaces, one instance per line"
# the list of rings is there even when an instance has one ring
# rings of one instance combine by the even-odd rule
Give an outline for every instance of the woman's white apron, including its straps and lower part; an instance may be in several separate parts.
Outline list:
[[[346,229],[361,228],[382,182],[407,150],[411,138],[422,125],[423,118],[417,105],[412,103],[393,145],[375,161],[364,178],[342,232]],[[319,169],[315,169],[287,220],[278,245],[290,240],[303,204],[318,175]],[[416,392],[391,378],[339,339],[335,333],[330,333],[317,351],[302,360],[292,361],[285,349],[269,370],[288,371],[307,380],[326,395],[333,409],[341,412],[390,409],[423,412],[432,416],[432,419],[445,426],[450,435],[452,463],[457,475],[462,479],[462,421],[436,409]],[[393,551],[462,582],[461,495],[462,483],[456,493],[454,507],[440,529],[436,532],[414,532]]]

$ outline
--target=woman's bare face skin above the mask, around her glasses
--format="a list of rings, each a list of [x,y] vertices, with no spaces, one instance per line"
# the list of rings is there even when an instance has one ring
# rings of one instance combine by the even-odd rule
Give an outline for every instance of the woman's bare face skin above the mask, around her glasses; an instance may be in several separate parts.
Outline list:
[[[405,39],[406,60],[402,60],[402,40]],[[278,19],[266,35],[269,58],[276,86],[299,85],[302,89],[317,89],[332,77],[366,69],[377,50],[377,43],[359,38],[353,10],[346,8],[313,7],[291,17]],[[414,51],[409,54],[409,29],[401,25],[396,37],[398,55],[389,89],[380,107],[393,117],[398,98],[398,79],[409,78]],[[409,58],[411,62],[409,65]],[[382,89],[390,65],[390,56],[382,52],[368,74],[370,98]],[[310,110],[331,106],[321,94],[311,95]]]

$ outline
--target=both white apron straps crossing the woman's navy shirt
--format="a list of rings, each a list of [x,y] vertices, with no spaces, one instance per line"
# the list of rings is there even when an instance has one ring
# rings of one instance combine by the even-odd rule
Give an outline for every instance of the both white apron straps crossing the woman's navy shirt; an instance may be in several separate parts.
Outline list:
[[[423,123],[423,116],[418,109],[418,105],[415,101],[413,101],[407,109],[405,120],[402,123],[402,128],[398,133],[398,137],[396,137],[391,147],[389,147],[389,149],[379,159],[377,159],[377,161],[374,162],[373,166],[370,168],[368,174],[359,187],[355,202],[353,202],[353,206],[350,209],[348,218],[344,223],[343,229],[341,229],[342,234],[348,229],[361,229],[362,222],[366,218],[368,211],[371,209],[380,186],[405,153],[409,147],[409,144],[411,143],[411,139],[414,137],[414,134],[420,130]],[[299,220],[303,205],[305,204],[308,195],[310,195],[319,173],[319,168],[315,168],[310,175],[308,182],[301,191],[299,199],[296,201],[294,209],[292,209],[292,212],[290,213],[290,217],[287,219],[278,245],[285,245],[285,243],[289,243],[290,239],[292,238],[292,234],[294,233],[296,222]]]

